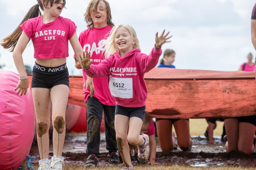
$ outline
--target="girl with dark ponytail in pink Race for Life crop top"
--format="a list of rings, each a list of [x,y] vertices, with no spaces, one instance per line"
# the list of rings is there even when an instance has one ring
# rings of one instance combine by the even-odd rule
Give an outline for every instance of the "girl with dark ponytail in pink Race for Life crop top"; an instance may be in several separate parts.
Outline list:
[[[37,0],[37,4],[28,11],[20,26],[4,38],[1,44],[13,51],[13,60],[20,75],[15,90],[18,90],[17,94],[21,96],[26,94],[29,85],[22,53],[30,39],[34,46],[36,61],[31,90],[36,113],[39,169],[62,170],[64,165],[62,149],[66,133],[65,111],[69,91],[66,65],[68,41],[77,56],[83,54],[76,35],[75,23],[60,16],[65,4],[66,0]],[[43,15],[39,7],[44,11]],[[81,64],[80,58],[78,62]],[[92,81],[92,78],[90,80]],[[48,159],[50,117],[53,125],[53,157]]]

